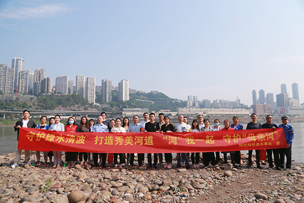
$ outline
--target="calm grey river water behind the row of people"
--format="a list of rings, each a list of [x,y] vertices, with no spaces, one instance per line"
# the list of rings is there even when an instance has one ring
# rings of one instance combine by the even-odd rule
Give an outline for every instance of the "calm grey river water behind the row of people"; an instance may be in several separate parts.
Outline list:
[[[290,123],[294,128],[294,139],[292,143],[292,160],[304,163],[304,123]],[[223,126],[221,126],[223,127]],[[244,126],[246,129],[246,126]],[[14,127],[0,127],[0,155],[14,153],[17,149],[17,132]],[[248,151],[242,151],[247,153]]]

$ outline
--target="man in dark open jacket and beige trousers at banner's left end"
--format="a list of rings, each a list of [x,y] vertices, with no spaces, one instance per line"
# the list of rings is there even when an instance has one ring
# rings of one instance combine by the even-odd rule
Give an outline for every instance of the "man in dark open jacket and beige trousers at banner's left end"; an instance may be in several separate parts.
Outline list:
[[[17,141],[19,140],[19,129],[21,127],[30,127],[30,128],[35,128],[36,123],[33,119],[29,118],[29,111],[24,110],[23,111],[23,118],[21,120],[18,120],[14,126],[15,131],[17,131]],[[21,159],[21,149],[18,149],[18,143],[17,143],[17,151],[16,151],[16,156],[14,159],[14,164],[11,165],[12,168],[15,168],[16,166],[19,165],[20,159]],[[24,163],[30,164],[29,162],[29,150],[24,150],[25,158],[24,158]]]

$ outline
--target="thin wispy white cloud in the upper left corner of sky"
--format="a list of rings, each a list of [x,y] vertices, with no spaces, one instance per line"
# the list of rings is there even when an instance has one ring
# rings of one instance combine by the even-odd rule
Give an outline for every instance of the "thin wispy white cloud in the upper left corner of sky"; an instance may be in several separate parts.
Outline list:
[[[0,12],[0,17],[10,19],[33,19],[52,18],[63,13],[74,10],[65,4],[47,4],[39,7],[19,7],[4,9]]]

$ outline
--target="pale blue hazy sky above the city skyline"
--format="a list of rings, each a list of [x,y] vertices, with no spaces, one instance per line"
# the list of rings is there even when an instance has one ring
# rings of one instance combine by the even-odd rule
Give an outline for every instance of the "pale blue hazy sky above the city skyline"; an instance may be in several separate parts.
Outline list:
[[[301,0],[0,0],[0,64],[248,106],[295,82],[303,103],[303,22]]]

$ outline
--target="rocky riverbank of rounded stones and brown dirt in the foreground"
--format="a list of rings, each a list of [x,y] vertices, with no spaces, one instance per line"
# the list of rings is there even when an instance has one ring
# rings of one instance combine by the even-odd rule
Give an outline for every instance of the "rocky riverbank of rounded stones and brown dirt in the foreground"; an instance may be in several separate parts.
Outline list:
[[[20,165],[0,156],[0,202],[304,202],[304,164],[291,170],[159,167],[76,168]]]

